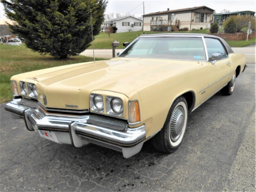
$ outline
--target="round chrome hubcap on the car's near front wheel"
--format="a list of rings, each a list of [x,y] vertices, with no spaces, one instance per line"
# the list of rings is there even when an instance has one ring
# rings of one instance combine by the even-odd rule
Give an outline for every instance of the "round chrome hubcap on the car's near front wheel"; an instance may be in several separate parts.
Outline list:
[[[170,137],[173,142],[177,141],[183,131],[185,124],[185,112],[182,106],[175,109],[170,121]]]

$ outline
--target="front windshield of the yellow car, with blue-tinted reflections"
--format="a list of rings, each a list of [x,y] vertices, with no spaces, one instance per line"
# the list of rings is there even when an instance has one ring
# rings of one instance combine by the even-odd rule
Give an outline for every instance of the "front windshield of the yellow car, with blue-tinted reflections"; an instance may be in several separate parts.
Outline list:
[[[119,57],[206,61],[201,37],[138,38]]]

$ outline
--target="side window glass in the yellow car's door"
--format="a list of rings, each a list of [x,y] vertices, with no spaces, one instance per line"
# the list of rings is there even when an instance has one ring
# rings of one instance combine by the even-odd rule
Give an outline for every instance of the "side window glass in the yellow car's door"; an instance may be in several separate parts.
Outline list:
[[[207,46],[209,60],[211,60],[212,55],[215,53],[220,53],[222,55],[222,59],[225,59],[229,56],[226,48],[219,40],[214,38],[204,38],[204,40]]]

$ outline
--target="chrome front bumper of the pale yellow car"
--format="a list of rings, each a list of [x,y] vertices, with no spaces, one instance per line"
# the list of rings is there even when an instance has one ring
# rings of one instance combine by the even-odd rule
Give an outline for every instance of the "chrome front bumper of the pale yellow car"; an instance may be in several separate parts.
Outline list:
[[[57,138],[54,141],[60,144],[81,147],[93,143],[122,152],[125,158],[129,158],[140,152],[146,138],[144,125],[114,130],[109,127],[115,122],[108,123],[106,119],[104,123],[107,122],[108,126],[101,122],[93,124],[90,120],[92,115],[47,113],[39,106],[36,107],[35,103],[25,106],[20,104],[20,101],[21,99],[13,99],[5,106],[5,109],[13,114],[13,119],[23,118],[29,131],[37,131],[39,134],[43,131],[54,132]]]

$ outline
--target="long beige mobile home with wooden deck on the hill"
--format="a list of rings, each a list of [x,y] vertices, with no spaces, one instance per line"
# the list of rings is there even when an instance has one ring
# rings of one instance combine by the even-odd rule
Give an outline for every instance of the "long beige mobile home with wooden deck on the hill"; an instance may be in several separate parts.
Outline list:
[[[206,7],[192,7],[148,13],[143,15],[143,31],[178,31],[182,28],[209,28],[215,10]]]

